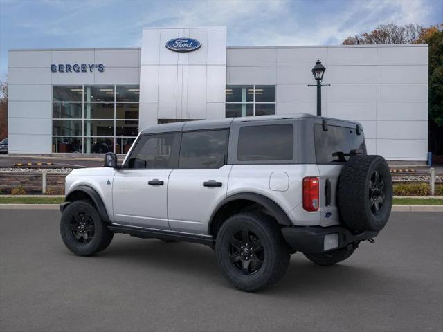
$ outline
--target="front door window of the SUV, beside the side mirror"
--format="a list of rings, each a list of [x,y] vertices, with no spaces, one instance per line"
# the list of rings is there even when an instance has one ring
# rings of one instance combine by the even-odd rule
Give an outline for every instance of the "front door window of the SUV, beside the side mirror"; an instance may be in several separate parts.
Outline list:
[[[145,135],[129,156],[129,169],[165,169],[177,167],[179,133]]]

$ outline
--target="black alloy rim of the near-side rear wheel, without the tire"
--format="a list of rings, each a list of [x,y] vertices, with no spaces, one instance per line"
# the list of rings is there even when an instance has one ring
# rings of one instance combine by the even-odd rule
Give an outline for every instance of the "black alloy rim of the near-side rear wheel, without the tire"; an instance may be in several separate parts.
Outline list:
[[[257,273],[263,265],[262,242],[251,230],[242,230],[230,239],[230,261],[245,275]]]

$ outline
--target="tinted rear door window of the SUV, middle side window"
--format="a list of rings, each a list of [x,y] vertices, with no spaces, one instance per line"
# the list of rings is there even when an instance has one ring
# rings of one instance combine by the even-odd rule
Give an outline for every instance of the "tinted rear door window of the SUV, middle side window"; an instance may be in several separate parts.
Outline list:
[[[225,164],[227,148],[227,130],[184,132],[181,136],[179,168],[219,168]]]

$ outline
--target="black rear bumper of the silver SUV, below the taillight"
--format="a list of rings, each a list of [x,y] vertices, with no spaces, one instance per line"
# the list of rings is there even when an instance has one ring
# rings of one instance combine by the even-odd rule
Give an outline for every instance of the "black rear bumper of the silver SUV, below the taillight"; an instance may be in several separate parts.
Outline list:
[[[372,239],[379,232],[353,234],[343,226],[284,227],[283,237],[293,250],[306,254],[320,254],[329,250],[343,248],[350,243]]]

